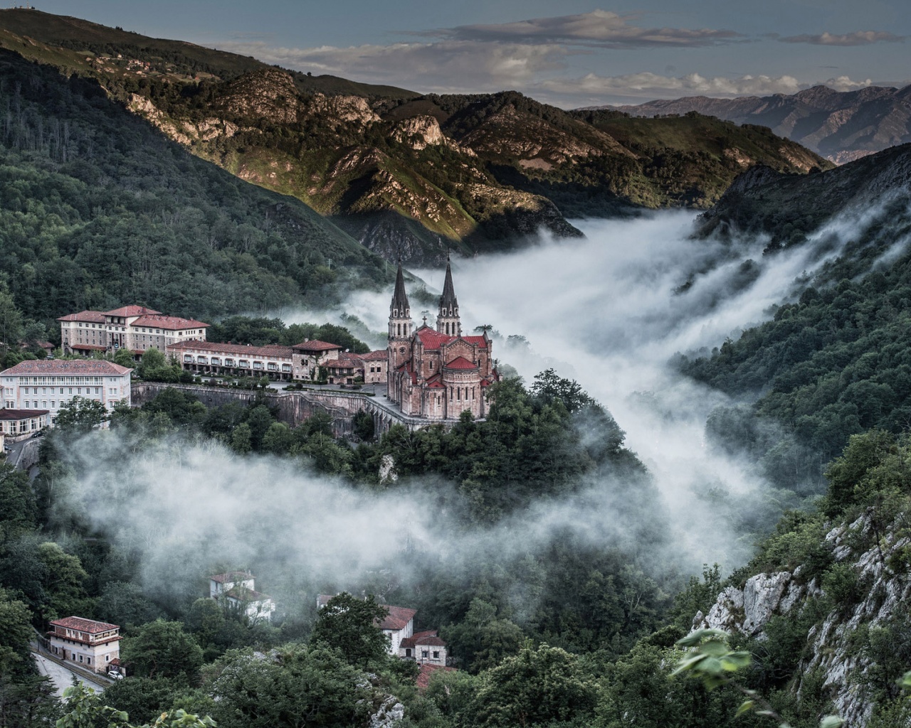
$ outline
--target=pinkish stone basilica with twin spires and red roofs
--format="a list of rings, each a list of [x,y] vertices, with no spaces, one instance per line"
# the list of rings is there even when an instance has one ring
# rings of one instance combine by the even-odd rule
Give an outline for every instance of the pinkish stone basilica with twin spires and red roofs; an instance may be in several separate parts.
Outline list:
[[[448,260],[436,329],[427,326],[425,319],[415,330],[399,264],[389,307],[386,370],[388,397],[404,415],[457,420],[467,410],[476,419],[485,418],[485,390],[499,379],[492,346],[486,331],[481,336],[462,335]]]

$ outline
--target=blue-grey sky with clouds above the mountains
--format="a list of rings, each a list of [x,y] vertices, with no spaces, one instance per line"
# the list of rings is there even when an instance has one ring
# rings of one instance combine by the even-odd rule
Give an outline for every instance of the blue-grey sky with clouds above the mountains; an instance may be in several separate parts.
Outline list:
[[[50,13],[425,93],[558,106],[911,83],[907,0],[37,0]]]

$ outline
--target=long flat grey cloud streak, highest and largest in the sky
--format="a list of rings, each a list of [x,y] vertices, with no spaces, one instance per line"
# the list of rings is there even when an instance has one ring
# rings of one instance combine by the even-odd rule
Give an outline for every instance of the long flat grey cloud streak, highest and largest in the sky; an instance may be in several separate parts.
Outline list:
[[[606,10],[580,15],[559,15],[498,25],[459,25],[426,35],[463,40],[596,45],[607,48],[715,45],[729,43],[742,35],[714,28],[640,28],[629,25],[628,16]]]

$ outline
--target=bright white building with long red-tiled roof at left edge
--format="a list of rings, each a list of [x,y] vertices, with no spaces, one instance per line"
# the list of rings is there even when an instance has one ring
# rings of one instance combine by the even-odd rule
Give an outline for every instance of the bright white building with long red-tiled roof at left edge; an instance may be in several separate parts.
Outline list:
[[[0,371],[8,410],[48,410],[53,425],[57,412],[75,397],[95,399],[111,411],[130,403],[130,372],[98,359],[30,359]]]

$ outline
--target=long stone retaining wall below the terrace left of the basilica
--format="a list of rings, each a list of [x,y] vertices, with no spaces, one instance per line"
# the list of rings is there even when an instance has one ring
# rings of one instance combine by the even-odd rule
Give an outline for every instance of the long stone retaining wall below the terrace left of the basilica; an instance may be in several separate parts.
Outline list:
[[[333,419],[335,437],[348,437],[353,433],[353,418],[360,410],[374,418],[377,435],[394,424],[408,430],[420,430],[432,424],[419,418],[402,414],[384,394],[371,395],[359,391],[340,389],[300,389],[292,391],[256,391],[229,387],[206,387],[198,384],[166,384],[163,382],[138,382],[132,387],[133,407],[141,407],[165,389],[182,389],[199,399],[206,407],[220,407],[236,402],[243,406],[262,402],[275,412],[276,418],[289,427],[297,427],[317,412],[325,412]]]

